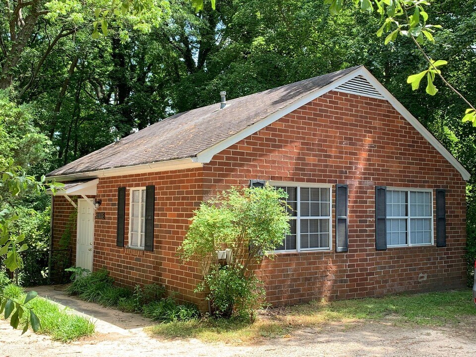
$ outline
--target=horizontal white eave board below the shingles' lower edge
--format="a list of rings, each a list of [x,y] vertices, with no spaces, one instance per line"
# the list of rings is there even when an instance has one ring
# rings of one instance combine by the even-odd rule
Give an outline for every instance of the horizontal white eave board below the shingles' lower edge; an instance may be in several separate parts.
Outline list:
[[[136,166],[126,166],[115,169],[106,169],[99,171],[91,171],[78,174],[70,175],[60,175],[60,176],[51,176],[47,177],[49,181],[71,181],[75,179],[88,179],[88,178],[102,178],[102,177],[112,177],[112,176],[123,176],[123,175],[134,175],[134,174],[146,174],[151,172],[161,172],[161,171],[173,171],[173,170],[182,170],[182,169],[193,169],[202,167],[203,164],[197,162],[196,158],[185,158],[178,160],[170,161],[161,161],[153,164],[144,164]]]

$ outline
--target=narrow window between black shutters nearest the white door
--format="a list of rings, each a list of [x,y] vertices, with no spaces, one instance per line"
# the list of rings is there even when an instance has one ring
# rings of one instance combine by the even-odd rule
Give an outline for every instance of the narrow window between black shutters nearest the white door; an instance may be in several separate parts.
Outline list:
[[[145,188],[130,189],[129,247],[144,249]]]

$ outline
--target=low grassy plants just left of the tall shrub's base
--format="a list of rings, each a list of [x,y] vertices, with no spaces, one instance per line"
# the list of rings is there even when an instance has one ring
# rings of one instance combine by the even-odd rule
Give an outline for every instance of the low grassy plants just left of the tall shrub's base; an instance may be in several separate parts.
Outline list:
[[[143,306],[143,315],[154,321],[189,321],[200,316],[194,304],[177,304],[172,297],[151,302]]]

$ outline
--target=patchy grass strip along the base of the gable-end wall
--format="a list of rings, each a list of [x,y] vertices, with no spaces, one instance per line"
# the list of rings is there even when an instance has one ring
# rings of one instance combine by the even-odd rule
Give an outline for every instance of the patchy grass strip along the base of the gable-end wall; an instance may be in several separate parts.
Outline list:
[[[162,323],[149,328],[149,332],[166,338],[198,338],[204,342],[239,345],[283,337],[303,327],[316,327],[328,322],[378,321],[389,315],[395,318],[397,324],[440,326],[458,322],[462,316],[476,315],[471,297],[471,291],[464,290],[333,302],[312,301],[264,311],[253,323],[201,319]]]

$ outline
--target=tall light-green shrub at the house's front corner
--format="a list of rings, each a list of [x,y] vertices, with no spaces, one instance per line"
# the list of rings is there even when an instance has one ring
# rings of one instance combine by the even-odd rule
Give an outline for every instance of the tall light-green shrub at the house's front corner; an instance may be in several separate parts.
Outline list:
[[[263,303],[254,267],[272,258],[289,234],[284,198],[284,191],[269,185],[232,188],[195,211],[179,256],[200,263],[205,275],[196,291],[207,294],[215,317],[253,319]]]

